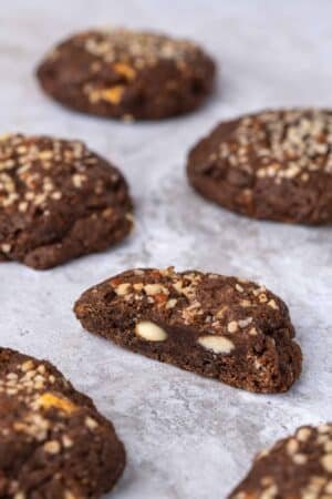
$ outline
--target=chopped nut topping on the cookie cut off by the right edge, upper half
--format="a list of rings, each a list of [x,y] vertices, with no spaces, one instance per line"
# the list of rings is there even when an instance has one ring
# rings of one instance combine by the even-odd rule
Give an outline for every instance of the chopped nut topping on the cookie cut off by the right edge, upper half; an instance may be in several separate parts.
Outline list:
[[[304,109],[267,111],[239,120],[211,161],[228,162],[258,179],[310,182],[315,172],[332,174],[332,113]]]

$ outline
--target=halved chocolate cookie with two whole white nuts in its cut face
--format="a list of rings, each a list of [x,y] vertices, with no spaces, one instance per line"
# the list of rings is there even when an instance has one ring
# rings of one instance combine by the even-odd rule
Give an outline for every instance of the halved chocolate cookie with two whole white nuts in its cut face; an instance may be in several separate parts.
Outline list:
[[[128,271],[83,293],[74,312],[91,333],[250,391],[286,391],[301,373],[286,304],[236,277]]]

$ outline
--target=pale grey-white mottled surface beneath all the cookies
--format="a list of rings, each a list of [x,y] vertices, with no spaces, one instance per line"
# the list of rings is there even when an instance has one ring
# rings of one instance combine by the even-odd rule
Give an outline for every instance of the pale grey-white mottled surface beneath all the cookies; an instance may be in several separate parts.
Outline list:
[[[115,251],[38,273],[0,265],[0,342],[46,357],[116,425],[128,454],[118,499],[220,499],[252,455],[298,425],[332,419],[332,232],[253,222],[186,184],[188,147],[218,120],[277,105],[329,105],[330,1],[10,0],[0,18],[1,131],[85,140],[127,175],[136,231]],[[105,24],[189,35],[220,62],[198,113],[153,124],[74,114],[32,70],[71,31]],[[290,306],[304,353],[287,395],[258,396],[116,348],[84,333],[71,307],[87,286],[136,265],[196,267],[267,284]]]

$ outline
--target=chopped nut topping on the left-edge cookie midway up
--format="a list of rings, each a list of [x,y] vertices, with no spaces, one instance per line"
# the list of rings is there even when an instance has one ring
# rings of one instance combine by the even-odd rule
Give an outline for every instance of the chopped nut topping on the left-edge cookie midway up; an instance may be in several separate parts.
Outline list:
[[[49,204],[63,200],[64,179],[81,190],[86,172],[96,163],[95,155],[77,141],[4,135],[0,139],[0,210],[14,208],[24,216],[39,206],[46,216]],[[105,186],[100,182],[96,189],[101,195]]]

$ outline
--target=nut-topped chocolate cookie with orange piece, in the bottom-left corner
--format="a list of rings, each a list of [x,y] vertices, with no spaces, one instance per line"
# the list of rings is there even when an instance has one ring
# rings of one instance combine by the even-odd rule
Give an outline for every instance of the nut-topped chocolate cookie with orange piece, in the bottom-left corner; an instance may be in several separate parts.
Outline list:
[[[125,466],[113,425],[52,364],[0,348],[0,497],[96,499]]]

